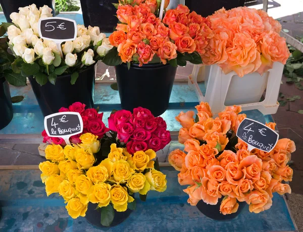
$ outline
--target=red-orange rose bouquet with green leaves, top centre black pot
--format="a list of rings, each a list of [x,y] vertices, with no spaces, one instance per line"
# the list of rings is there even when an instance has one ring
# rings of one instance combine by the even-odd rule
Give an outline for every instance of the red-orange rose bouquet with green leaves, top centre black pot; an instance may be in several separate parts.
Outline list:
[[[179,5],[159,18],[161,1],[119,1],[116,31],[109,41],[114,46],[103,57],[110,66],[122,63],[169,63],[173,67],[186,66],[189,61],[201,64],[205,52],[210,22]],[[169,1],[165,1],[166,8]]]

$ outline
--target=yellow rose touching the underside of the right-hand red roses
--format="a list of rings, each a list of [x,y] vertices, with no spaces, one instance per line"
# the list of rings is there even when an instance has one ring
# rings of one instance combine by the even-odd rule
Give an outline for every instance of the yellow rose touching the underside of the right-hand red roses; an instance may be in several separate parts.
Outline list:
[[[137,151],[132,157],[134,169],[144,171],[146,167],[154,168],[154,161],[151,159],[156,158],[156,152],[149,149],[147,151]]]

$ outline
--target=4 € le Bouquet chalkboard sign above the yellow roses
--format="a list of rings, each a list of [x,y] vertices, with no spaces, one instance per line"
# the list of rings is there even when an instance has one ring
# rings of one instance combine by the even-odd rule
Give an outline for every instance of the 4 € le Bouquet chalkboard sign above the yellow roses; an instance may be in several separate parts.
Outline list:
[[[49,137],[60,137],[70,144],[71,136],[82,133],[83,121],[78,112],[54,113],[44,118],[44,128]]]

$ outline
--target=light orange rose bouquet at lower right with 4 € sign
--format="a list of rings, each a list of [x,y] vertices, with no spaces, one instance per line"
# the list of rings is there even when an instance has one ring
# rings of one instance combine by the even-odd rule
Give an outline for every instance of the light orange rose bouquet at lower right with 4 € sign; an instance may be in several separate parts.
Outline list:
[[[272,206],[273,193],[291,193],[283,182],[292,179],[287,163],[295,151],[293,141],[280,139],[270,152],[248,151],[247,144],[235,135],[246,118],[239,114],[240,106],[227,106],[215,119],[208,103],[201,102],[196,109],[195,119],[193,111],[176,117],[182,126],[178,138],[184,151],[169,154],[170,164],[180,171],[180,185],[189,185],[183,190],[189,204],[221,202],[220,212],[226,215],[237,211],[238,202],[246,202],[250,212],[259,213]],[[266,125],[271,129],[276,126]]]

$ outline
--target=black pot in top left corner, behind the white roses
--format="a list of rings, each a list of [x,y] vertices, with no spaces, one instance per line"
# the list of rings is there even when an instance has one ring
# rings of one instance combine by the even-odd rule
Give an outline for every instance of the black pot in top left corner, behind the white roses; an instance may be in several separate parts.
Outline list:
[[[3,13],[6,20],[11,23],[10,14],[13,12],[19,12],[19,7],[27,7],[29,5],[35,4],[37,8],[43,7],[44,5],[52,8],[53,15],[55,15],[55,0],[0,0]]]

